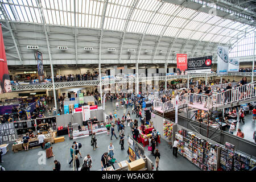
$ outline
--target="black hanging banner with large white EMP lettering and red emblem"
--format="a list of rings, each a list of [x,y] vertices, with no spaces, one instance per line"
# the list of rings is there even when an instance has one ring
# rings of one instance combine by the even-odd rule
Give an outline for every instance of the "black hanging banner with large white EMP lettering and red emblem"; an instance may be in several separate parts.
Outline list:
[[[212,56],[194,57],[188,59],[188,73],[211,73]]]

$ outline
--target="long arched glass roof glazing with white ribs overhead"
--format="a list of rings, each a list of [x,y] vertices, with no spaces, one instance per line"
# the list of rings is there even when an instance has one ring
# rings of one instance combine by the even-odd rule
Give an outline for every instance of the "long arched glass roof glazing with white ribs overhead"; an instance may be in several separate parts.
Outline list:
[[[232,45],[246,32],[247,24],[212,16],[184,6],[158,0],[0,0],[7,19],[14,22],[102,28],[141,34],[171,36]],[[107,2],[107,3],[106,3]],[[104,25],[101,21],[106,13]],[[0,16],[5,19],[3,15]]]

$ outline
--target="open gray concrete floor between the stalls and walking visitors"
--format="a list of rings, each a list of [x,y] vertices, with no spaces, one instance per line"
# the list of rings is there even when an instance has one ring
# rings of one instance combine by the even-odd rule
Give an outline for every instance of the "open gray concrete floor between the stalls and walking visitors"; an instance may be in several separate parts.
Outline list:
[[[110,102],[106,101],[105,113],[109,114],[110,112],[114,113],[115,101]],[[119,109],[117,111],[118,117],[121,118],[123,113],[127,113],[130,111],[131,107],[128,109]],[[144,113],[143,113],[144,114]],[[135,114],[131,115],[132,119],[135,119]],[[139,119],[139,118],[137,118]],[[139,122],[140,125],[140,122]],[[117,134],[117,129],[115,129],[115,133]],[[127,160],[127,136],[131,134],[130,127],[126,127],[125,129],[125,150],[121,150],[121,146],[119,145],[119,139],[110,140],[110,136],[106,133],[97,135],[97,146],[98,148],[94,151],[92,146],[90,146],[90,137],[84,137],[76,139],[77,142],[82,144],[81,154],[84,158],[85,155],[90,154],[92,157],[92,170],[101,169],[101,156],[104,152],[108,152],[109,143],[112,142],[114,146],[114,158],[121,162],[122,160]],[[53,144],[53,154],[55,155],[53,158],[46,159],[45,164],[40,164],[40,152],[44,151],[40,147],[34,148],[29,151],[19,151],[14,153],[11,151],[11,146],[9,145],[9,152],[6,155],[2,156],[1,163],[6,170],[31,170],[31,171],[51,171],[54,167],[53,161],[57,159],[61,164],[61,171],[72,171],[72,167],[69,167],[69,160],[71,160],[70,156],[70,148],[73,143],[73,140],[70,140],[68,135],[65,135],[65,142]],[[147,147],[144,147],[145,155],[151,159],[152,162],[155,163],[154,156],[151,155],[150,151],[147,150]],[[175,158],[172,155],[172,149],[168,147],[168,143],[165,140],[161,140],[161,143],[158,145],[158,150],[160,152],[160,162],[159,162],[159,171],[199,171],[200,169],[196,167],[194,164],[189,162],[187,159],[178,155]],[[82,163],[82,159],[80,158],[80,163]],[[82,165],[82,164],[80,164]],[[155,166],[155,164],[154,164]],[[155,169],[154,169],[155,170]]]

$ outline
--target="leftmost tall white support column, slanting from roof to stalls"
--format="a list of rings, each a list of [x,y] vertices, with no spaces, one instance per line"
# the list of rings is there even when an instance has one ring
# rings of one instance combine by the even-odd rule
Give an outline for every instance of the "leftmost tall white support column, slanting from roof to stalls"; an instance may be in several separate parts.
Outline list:
[[[40,10],[41,19],[42,19],[42,21],[43,21],[44,34],[46,35],[46,43],[47,43],[47,48],[48,48],[49,61],[50,61],[50,65],[51,65],[51,75],[52,75],[52,87],[53,87],[54,105],[55,105],[55,108],[57,109],[57,101],[56,101],[57,98],[56,98],[56,93],[55,93],[55,84],[54,84],[54,75],[53,75],[53,65],[52,65],[51,49],[50,49],[50,46],[49,46],[49,39],[48,39],[47,30],[46,30],[46,19],[44,18],[41,0],[38,0],[38,5],[39,5],[39,10]]]

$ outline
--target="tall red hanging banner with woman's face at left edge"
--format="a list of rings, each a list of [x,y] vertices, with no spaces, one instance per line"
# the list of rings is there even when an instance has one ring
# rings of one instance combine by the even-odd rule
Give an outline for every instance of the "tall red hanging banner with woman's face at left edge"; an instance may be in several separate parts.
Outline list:
[[[3,43],[2,25],[0,23],[0,93],[11,92],[11,80],[9,76],[5,44]]]

